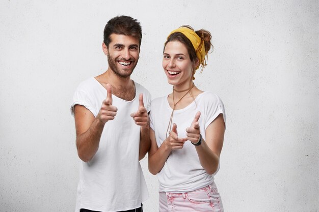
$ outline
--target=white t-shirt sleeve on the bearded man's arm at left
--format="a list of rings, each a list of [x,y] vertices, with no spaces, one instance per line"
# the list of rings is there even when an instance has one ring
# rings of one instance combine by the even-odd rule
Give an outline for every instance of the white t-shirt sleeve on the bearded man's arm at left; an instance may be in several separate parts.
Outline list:
[[[94,110],[93,103],[89,98],[89,95],[84,92],[83,90],[76,90],[73,95],[73,102],[71,104],[71,115],[74,116],[74,106],[75,105],[82,105],[86,107],[90,112],[96,116],[97,112]]]

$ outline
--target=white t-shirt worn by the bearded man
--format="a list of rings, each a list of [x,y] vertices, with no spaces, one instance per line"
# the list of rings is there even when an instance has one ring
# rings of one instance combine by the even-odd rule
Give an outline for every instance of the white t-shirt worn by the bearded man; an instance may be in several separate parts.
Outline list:
[[[135,82],[136,96],[125,101],[112,95],[118,111],[114,120],[104,126],[99,148],[87,163],[81,161],[75,211],[81,208],[97,211],[121,211],[138,208],[148,198],[148,191],[139,162],[140,126],[130,114],[139,108],[143,93],[144,106],[150,110],[148,90]],[[79,84],[71,104],[85,106],[95,117],[107,90],[95,79]]]

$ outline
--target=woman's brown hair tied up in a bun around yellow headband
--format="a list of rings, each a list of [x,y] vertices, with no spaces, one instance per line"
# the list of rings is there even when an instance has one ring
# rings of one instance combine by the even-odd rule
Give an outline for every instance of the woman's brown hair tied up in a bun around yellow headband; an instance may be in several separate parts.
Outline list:
[[[189,25],[183,25],[181,27],[188,27],[192,30],[194,30],[191,26]],[[211,40],[211,35],[210,33],[205,30],[205,29],[200,29],[199,31],[195,31],[195,33],[201,38],[201,44],[199,45],[199,49],[202,48],[202,45],[205,46],[205,52],[206,52],[206,57],[207,57],[207,54],[208,54],[208,51],[210,49],[214,49],[214,46],[212,46],[210,40]],[[179,41],[181,42],[182,44],[185,45],[185,47],[187,48],[187,51],[190,55],[190,59],[191,61],[195,64],[196,62],[196,59],[197,59],[197,56],[196,56],[196,50],[194,49],[194,46],[192,44],[192,42],[190,41],[190,39],[188,39],[184,34],[180,33],[180,32],[176,32],[176,33],[173,33],[171,34],[167,41],[165,42],[164,44],[164,49],[165,49],[165,46],[168,44],[168,42],[170,41]],[[208,58],[208,57],[207,57]],[[204,67],[207,65],[206,64],[206,59],[204,58],[203,62],[200,64],[202,66],[201,68],[201,71],[203,71]],[[193,75],[195,74],[195,67],[194,67],[194,71],[193,71]]]

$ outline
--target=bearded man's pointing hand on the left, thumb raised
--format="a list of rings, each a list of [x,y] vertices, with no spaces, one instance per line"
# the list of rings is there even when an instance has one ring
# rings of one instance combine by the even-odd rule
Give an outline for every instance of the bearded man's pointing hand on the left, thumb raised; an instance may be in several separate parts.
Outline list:
[[[97,114],[97,119],[102,123],[107,123],[109,120],[113,120],[116,116],[117,107],[112,105],[112,86],[107,84],[107,99],[102,102],[101,109]]]

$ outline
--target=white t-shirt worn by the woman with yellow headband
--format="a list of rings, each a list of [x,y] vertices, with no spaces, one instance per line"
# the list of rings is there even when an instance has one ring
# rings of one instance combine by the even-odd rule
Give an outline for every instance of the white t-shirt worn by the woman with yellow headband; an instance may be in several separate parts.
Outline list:
[[[197,111],[201,112],[198,122],[204,140],[206,128],[219,114],[223,114],[226,123],[225,109],[221,99],[213,93],[204,92],[187,107],[174,110],[172,124],[177,125],[178,137],[187,137],[185,130],[191,126]],[[167,96],[152,101],[150,127],[155,132],[158,147],[166,139],[171,113],[172,108]],[[191,141],[186,141],[182,149],[172,150],[161,172],[157,173],[159,191],[171,193],[194,191],[213,183],[214,175],[215,173],[208,174],[205,171],[199,162],[195,146]]]

